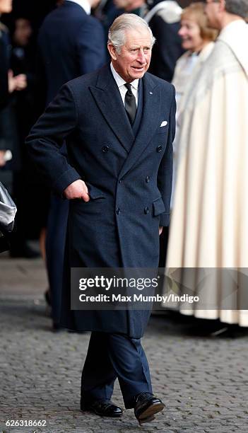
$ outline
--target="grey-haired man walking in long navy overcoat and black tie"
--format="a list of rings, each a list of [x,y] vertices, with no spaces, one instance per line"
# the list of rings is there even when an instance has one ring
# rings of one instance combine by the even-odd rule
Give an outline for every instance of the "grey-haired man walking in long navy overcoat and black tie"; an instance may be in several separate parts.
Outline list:
[[[62,86],[27,139],[44,179],[70,200],[61,323],[92,331],[81,408],[122,415],[110,401],[118,378],[140,423],[164,408],[141,346],[150,311],[71,310],[69,270],[158,267],[170,215],[175,88],[146,72],[153,42],[142,18],[119,16],[109,33],[111,64]],[[65,138],[68,158],[59,153]]]

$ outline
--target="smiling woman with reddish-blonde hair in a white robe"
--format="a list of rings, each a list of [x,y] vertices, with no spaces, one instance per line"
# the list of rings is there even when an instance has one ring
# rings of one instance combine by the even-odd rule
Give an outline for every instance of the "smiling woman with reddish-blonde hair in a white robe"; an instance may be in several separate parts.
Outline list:
[[[173,183],[172,183],[172,201],[175,190],[175,181],[177,178],[177,162],[179,160],[179,125],[182,112],[187,108],[187,96],[191,93],[191,87],[196,85],[196,76],[203,67],[204,62],[208,59],[214,47],[217,30],[210,28],[208,18],[205,13],[203,2],[193,3],[183,9],[181,16],[181,28],[178,32],[182,38],[182,47],[187,50],[182,57],[177,60],[175,74],[172,79],[176,89],[177,100],[177,129],[173,145],[174,165],[173,165]]]

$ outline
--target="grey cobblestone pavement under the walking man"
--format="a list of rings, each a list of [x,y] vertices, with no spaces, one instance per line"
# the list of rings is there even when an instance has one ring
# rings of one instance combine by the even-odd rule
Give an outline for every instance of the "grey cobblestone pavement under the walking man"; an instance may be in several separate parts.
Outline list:
[[[153,317],[143,338],[165,411],[139,427],[133,410],[101,418],[79,410],[89,333],[52,333],[41,260],[0,259],[0,432],[248,432],[248,334],[210,337],[199,321]],[[100,354],[99,354],[100,359]],[[113,400],[122,405],[119,386]],[[45,420],[45,427],[7,427]]]

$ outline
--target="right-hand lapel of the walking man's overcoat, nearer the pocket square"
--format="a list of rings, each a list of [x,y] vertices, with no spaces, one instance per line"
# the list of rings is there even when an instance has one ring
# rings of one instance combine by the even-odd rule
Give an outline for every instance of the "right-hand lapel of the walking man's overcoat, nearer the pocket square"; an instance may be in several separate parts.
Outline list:
[[[155,130],[159,126],[161,103],[159,86],[150,74],[145,74],[143,76],[143,115],[141,117],[141,125],[131,151],[119,173],[119,177],[123,177],[131,170],[150,143]]]

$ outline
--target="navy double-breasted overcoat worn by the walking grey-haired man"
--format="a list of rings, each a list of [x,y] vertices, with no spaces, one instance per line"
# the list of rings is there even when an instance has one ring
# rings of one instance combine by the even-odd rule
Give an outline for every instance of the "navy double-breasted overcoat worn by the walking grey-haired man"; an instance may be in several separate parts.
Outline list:
[[[63,86],[27,139],[30,156],[58,195],[80,178],[90,193],[89,202],[70,201],[61,311],[66,328],[138,338],[150,316],[70,308],[71,267],[158,267],[158,228],[170,218],[175,88],[148,73],[142,83],[136,138],[106,65]],[[59,154],[65,138],[68,160]]]

